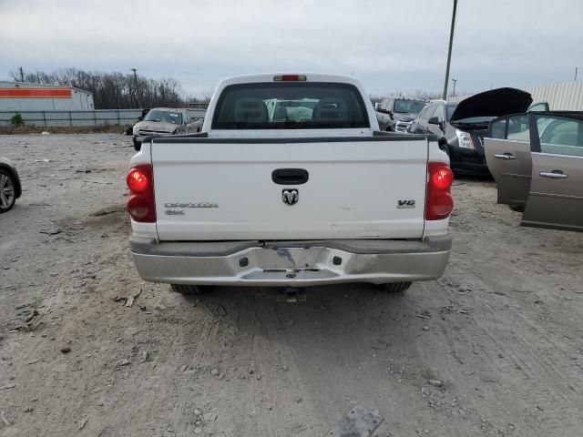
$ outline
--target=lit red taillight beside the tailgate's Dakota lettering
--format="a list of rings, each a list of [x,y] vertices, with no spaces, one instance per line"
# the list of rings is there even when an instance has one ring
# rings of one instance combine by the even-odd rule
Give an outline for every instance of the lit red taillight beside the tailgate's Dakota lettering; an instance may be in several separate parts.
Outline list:
[[[156,204],[152,166],[140,164],[131,168],[126,182],[129,188],[128,213],[131,218],[142,223],[154,223]]]

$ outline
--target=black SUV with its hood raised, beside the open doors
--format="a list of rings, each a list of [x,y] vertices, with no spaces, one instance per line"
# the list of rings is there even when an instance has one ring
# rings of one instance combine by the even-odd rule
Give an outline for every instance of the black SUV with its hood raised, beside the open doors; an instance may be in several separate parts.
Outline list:
[[[459,103],[431,102],[414,119],[411,132],[434,134],[457,174],[488,176],[483,140],[495,117],[524,112],[532,97],[516,88],[497,88]]]

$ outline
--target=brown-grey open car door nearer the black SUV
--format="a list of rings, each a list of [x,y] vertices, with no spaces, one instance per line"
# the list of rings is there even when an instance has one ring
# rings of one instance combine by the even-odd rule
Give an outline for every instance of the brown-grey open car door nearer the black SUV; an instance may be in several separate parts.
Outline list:
[[[532,171],[530,132],[526,114],[496,118],[484,139],[484,153],[496,180],[498,203],[524,208]]]

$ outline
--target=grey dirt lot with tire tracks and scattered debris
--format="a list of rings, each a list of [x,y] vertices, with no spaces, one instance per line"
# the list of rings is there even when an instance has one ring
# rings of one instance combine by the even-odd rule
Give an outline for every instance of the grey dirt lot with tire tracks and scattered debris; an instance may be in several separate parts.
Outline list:
[[[184,298],[131,262],[132,152],[0,137],[25,187],[0,216],[0,435],[323,436],[357,404],[378,437],[581,435],[583,234],[519,228],[461,179],[442,279]]]

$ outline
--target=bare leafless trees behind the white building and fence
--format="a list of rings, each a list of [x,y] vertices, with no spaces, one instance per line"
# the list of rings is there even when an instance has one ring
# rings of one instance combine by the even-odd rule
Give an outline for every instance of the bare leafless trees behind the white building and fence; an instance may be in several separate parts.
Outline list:
[[[134,107],[186,107],[184,92],[178,80],[168,77],[150,79],[133,73],[102,73],[66,68],[53,73],[36,71],[11,73],[16,82],[32,82],[46,86],[74,86],[93,93],[96,109],[128,109]]]

